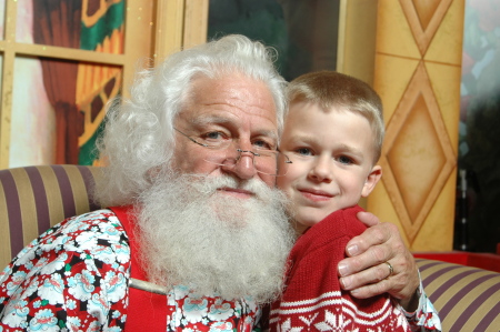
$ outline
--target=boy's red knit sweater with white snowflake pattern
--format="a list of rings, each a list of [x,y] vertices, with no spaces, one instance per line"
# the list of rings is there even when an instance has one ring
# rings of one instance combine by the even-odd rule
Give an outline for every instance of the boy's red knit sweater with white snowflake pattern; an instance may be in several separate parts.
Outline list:
[[[337,265],[346,244],[366,229],[359,211],[333,212],[297,240],[287,289],[271,306],[271,331],[410,331],[388,294],[359,300],[340,289]]]

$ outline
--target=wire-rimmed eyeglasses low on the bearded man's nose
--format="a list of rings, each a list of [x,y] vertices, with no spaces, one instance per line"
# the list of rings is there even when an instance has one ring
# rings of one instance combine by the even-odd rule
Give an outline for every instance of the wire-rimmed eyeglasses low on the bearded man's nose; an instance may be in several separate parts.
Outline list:
[[[287,174],[288,165],[292,163],[289,158],[278,150],[269,150],[266,148],[253,147],[252,150],[241,150],[239,148],[231,151],[231,147],[234,140],[213,140],[206,141],[202,138],[192,138],[177,128],[173,128],[178,133],[189,139],[191,142],[197,143],[203,148],[212,150],[212,152],[204,158],[204,161],[223,165],[227,168],[233,168],[241,159],[241,153],[250,153],[253,160],[253,167],[259,173],[282,177]],[[236,152],[236,153],[234,153]],[[278,161],[280,165],[278,168]]]

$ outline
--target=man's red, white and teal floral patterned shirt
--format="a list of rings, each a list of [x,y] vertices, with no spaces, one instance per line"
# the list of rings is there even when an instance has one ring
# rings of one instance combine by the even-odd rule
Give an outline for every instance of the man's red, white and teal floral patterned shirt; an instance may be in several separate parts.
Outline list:
[[[123,331],[128,315],[139,314],[128,312],[130,270],[129,239],[112,211],[69,218],[0,273],[0,332]],[[260,315],[251,299],[201,296],[181,285],[164,302],[166,331],[251,331]]]

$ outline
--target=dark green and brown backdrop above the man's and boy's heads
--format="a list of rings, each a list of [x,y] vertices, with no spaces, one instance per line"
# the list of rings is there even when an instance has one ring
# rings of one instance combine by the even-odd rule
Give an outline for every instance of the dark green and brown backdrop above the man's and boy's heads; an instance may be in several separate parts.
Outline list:
[[[337,67],[340,1],[210,0],[208,39],[241,33],[273,47],[281,76],[293,80]]]

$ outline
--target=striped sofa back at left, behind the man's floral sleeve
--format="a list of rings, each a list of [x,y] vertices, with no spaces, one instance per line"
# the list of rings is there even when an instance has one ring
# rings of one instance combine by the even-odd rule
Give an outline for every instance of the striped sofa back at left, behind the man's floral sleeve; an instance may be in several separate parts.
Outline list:
[[[0,269],[51,225],[98,209],[89,191],[99,174],[84,165],[0,170]]]

